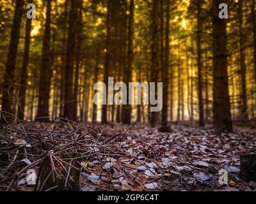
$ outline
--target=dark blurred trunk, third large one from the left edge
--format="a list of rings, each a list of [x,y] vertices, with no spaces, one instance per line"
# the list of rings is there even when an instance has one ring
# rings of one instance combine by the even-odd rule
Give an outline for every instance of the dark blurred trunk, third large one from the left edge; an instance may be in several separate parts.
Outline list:
[[[40,68],[39,98],[36,118],[45,122],[49,121],[49,98],[51,88],[51,0],[47,0],[45,33]]]

